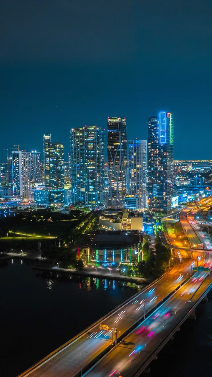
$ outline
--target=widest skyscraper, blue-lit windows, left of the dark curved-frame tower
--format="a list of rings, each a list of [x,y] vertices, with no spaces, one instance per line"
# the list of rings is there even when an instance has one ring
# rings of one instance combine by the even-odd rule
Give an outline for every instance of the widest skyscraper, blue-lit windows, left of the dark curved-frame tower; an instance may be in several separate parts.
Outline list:
[[[71,204],[100,207],[105,202],[103,131],[97,126],[70,131]]]

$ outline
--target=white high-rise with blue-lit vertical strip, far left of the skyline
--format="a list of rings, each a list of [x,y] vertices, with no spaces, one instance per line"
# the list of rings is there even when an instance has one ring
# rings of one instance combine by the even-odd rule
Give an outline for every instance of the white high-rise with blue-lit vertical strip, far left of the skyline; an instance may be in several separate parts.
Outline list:
[[[23,150],[12,151],[12,193],[13,196],[28,197],[31,168],[31,153]]]

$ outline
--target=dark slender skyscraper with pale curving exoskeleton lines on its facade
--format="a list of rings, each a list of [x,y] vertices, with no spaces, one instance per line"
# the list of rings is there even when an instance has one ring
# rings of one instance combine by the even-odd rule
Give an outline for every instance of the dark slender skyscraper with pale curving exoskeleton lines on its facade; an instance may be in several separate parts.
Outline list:
[[[107,207],[124,207],[126,194],[127,131],[125,118],[108,118],[108,190]]]

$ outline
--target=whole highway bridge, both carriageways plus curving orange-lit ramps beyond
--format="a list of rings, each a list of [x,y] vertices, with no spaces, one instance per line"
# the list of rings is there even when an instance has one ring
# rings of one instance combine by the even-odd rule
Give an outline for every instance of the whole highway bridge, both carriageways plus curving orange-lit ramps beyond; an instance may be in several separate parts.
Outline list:
[[[210,200],[212,201],[212,199]],[[204,203],[201,201],[198,207]],[[205,204],[209,205],[208,202]],[[198,208],[195,209],[198,210]],[[194,239],[195,241],[198,239],[200,242],[201,234],[197,235],[198,229],[194,230],[195,224],[190,224],[193,221],[192,216],[188,219],[188,215],[192,215],[195,209],[183,209],[180,212],[180,222],[183,223],[182,226],[186,229],[189,239],[192,239],[191,242]],[[198,238],[199,236],[200,238]],[[196,305],[211,288],[212,279],[209,277],[209,273],[204,271],[195,275],[197,276],[194,277],[197,279],[195,282],[192,281],[193,277],[185,282],[191,273],[191,265],[197,262],[200,251],[194,250],[193,259],[189,259],[188,248],[178,249],[176,244],[172,245],[173,240],[168,235],[166,235],[166,241],[177,250],[180,256],[183,250],[187,258],[183,259],[181,256],[181,263],[171,271],[18,377],[78,376],[80,375],[80,366],[84,372],[83,375],[117,376],[118,373],[123,374],[124,372],[123,376],[138,376],[138,373],[141,373],[151,362],[152,355],[156,355],[160,351],[171,334],[179,329],[187,316],[193,313]],[[204,243],[204,247],[206,246],[208,245]],[[199,265],[203,265],[204,268],[204,264],[212,263],[212,253],[208,251],[203,256]],[[179,288],[183,282],[185,284]],[[177,290],[177,288],[179,289]],[[175,292],[175,290],[177,291]],[[154,309],[155,313],[149,316]],[[175,311],[176,314],[174,314]],[[170,313],[170,315],[166,315],[166,313]],[[156,317],[153,318],[154,316]],[[146,319],[141,323],[144,317]],[[146,327],[137,333],[138,328],[132,330],[137,324],[140,324],[140,328]],[[108,326],[108,331],[106,327],[105,330],[100,328],[100,325]],[[125,334],[129,335],[126,335],[124,341],[121,340],[121,343],[112,348],[116,330],[118,342],[123,339]],[[109,354],[103,356],[108,351]],[[130,354],[131,356],[129,356]],[[98,363],[90,370],[89,368],[96,360]]]

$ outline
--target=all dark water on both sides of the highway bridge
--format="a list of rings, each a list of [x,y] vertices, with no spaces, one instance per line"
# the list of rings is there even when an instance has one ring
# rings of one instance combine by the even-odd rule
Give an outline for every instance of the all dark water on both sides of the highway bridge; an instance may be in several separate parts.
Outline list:
[[[141,287],[0,262],[0,377],[15,377]],[[151,363],[149,377],[212,376],[212,298]]]

